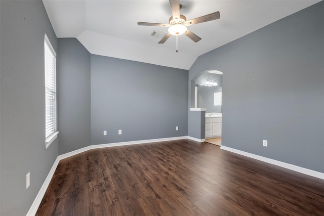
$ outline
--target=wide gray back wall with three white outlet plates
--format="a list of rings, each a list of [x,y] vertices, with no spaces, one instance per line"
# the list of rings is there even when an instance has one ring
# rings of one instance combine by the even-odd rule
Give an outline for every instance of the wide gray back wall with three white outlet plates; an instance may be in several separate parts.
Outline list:
[[[91,144],[187,136],[187,83],[187,70],[91,55]]]

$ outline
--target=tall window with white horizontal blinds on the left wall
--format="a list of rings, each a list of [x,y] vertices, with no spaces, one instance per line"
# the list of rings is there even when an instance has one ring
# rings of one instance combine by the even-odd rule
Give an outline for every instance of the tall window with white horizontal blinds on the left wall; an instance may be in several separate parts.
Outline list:
[[[45,148],[56,138],[56,53],[45,34]]]

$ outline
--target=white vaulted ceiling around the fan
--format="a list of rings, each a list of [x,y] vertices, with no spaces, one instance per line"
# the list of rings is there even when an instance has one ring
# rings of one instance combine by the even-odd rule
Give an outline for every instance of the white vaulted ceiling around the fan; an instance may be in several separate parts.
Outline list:
[[[187,20],[220,12],[220,19],[188,26],[202,39],[185,35],[165,44],[150,36],[167,27],[138,26],[137,22],[168,23],[168,0],[43,0],[57,37],[75,37],[86,49],[102,56],[189,69],[196,58],[241,36],[311,6],[320,0],[180,0]]]

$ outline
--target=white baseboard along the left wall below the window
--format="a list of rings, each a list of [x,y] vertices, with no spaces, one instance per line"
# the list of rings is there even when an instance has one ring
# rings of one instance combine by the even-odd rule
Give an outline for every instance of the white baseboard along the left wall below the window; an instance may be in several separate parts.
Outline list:
[[[51,180],[53,178],[54,172],[55,172],[56,167],[59,164],[59,162],[60,162],[60,159],[59,159],[59,157],[57,157],[56,160],[54,161],[54,164],[53,164],[49,174],[47,175],[41,189],[39,189],[38,194],[36,195],[36,198],[34,199],[33,203],[31,204],[31,206],[29,208],[29,211],[27,212],[26,216],[29,216],[29,215],[33,216],[33,215],[36,214],[36,212],[38,210],[38,207],[41,204],[42,199],[43,199],[43,197],[45,195],[45,192],[46,192],[47,188],[50,185],[50,182],[51,182]]]

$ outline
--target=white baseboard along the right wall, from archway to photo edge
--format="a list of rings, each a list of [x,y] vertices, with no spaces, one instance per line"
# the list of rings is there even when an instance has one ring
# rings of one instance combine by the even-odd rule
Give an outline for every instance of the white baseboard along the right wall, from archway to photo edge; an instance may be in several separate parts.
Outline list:
[[[230,152],[233,152],[233,153],[236,153],[236,154],[247,156],[247,157],[250,157],[250,158],[253,158],[253,159],[256,159],[256,160],[261,160],[261,161],[266,162],[266,163],[271,163],[273,165],[277,165],[277,166],[280,166],[280,167],[291,169],[291,170],[294,170],[294,171],[297,171],[297,172],[301,172],[302,174],[306,174],[308,176],[312,176],[312,177],[316,177],[318,179],[323,179],[324,180],[324,173],[323,172],[314,171],[314,170],[303,168],[303,167],[300,167],[300,166],[296,166],[296,165],[293,165],[293,164],[290,164],[290,163],[285,163],[285,162],[281,162],[281,161],[278,161],[278,160],[273,160],[273,159],[270,159],[270,158],[267,158],[267,157],[263,157],[263,156],[256,155],[256,154],[251,154],[249,152],[233,149],[233,148],[226,147],[226,146],[221,146],[220,148],[223,149],[223,150],[226,150],[226,151],[230,151]]]

